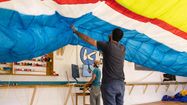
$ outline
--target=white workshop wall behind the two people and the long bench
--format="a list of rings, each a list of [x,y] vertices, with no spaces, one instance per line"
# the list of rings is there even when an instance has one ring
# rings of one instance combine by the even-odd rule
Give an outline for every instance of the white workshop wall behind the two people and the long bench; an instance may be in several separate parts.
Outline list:
[[[79,64],[80,46],[66,46],[64,56],[59,58],[55,56],[54,70],[59,73],[59,76],[9,76],[1,75],[1,81],[67,81],[66,72],[71,78],[71,66],[70,64]],[[99,57],[97,56],[97,59]],[[136,71],[134,70],[134,64],[125,61],[124,66],[126,82],[160,82],[160,72],[152,71]],[[80,81],[89,80],[89,78],[79,78]],[[177,77],[178,81],[186,81],[184,77]],[[136,86],[132,93],[129,95],[130,86],[126,86],[125,91],[125,105],[134,105],[146,102],[159,101],[165,94],[174,95],[176,92],[182,90],[182,86],[175,91],[175,86],[171,86],[166,92],[166,86],[161,86],[156,93],[156,86],[149,86],[145,92],[145,87]],[[36,98],[33,105],[63,105],[66,99],[69,88],[38,88],[36,92]],[[72,93],[78,92],[79,88],[73,88]],[[33,89],[10,89],[8,86],[6,89],[0,89],[0,104],[1,105],[29,105]],[[81,101],[82,98],[79,98]],[[79,101],[79,102],[80,102]],[[88,102],[89,100],[87,100]],[[73,105],[71,99],[68,100],[68,105]],[[82,105],[80,102],[79,105]]]

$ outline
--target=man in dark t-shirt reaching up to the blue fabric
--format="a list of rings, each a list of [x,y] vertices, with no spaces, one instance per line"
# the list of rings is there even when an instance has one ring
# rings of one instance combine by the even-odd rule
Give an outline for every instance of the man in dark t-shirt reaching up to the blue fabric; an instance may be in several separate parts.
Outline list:
[[[115,28],[107,42],[96,41],[78,32],[71,26],[73,32],[85,42],[95,46],[103,53],[101,93],[103,105],[123,105],[125,93],[124,57],[125,46],[119,41],[123,38],[123,31]]]

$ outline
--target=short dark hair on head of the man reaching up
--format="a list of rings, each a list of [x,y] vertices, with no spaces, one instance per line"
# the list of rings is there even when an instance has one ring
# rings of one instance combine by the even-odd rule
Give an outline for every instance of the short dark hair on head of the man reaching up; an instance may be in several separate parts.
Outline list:
[[[123,31],[120,28],[115,28],[112,31],[112,39],[114,41],[119,42],[121,40],[121,38],[123,37]]]

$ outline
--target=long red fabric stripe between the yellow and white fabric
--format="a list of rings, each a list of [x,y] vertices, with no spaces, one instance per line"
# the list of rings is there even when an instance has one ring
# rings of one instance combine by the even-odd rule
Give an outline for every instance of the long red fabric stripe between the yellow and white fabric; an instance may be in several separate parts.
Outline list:
[[[135,19],[135,20],[138,20],[141,22],[145,22],[145,23],[151,22],[152,24],[155,24],[155,25],[157,25],[167,31],[170,31],[171,33],[187,40],[187,32],[184,32],[184,31],[178,29],[177,27],[174,27],[162,20],[150,19],[150,18],[141,16],[139,14],[136,14],[136,13],[128,10],[127,8],[121,6],[120,4],[118,4],[117,2],[115,2],[115,0],[106,0],[106,4],[109,5],[111,8],[113,8],[114,10],[120,12],[121,14],[123,14],[129,18],[132,18],[132,19]]]

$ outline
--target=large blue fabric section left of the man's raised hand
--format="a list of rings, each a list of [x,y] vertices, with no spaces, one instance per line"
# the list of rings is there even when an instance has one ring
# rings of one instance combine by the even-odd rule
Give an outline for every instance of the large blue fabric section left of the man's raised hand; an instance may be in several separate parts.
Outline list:
[[[30,59],[73,42],[74,21],[58,13],[29,16],[0,9],[0,62]]]

